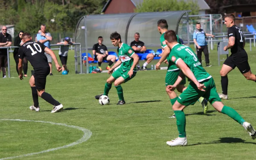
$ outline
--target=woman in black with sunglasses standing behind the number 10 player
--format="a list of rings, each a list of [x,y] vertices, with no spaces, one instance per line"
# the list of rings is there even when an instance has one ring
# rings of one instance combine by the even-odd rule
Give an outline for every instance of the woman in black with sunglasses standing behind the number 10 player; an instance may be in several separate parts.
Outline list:
[[[20,31],[18,36],[15,37],[14,39],[14,46],[20,47],[23,44],[22,40],[22,35],[23,35],[23,31]],[[19,70],[18,70],[18,64],[19,64],[19,56],[18,56],[18,50],[19,48],[15,48],[13,51],[13,58],[15,60],[16,63],[16,70],[18,75],[19,74]],[[24,71],[24,77],[27,77],[27,71],[28,71],[28,60],[26,58],[23,58],[23,71]]]

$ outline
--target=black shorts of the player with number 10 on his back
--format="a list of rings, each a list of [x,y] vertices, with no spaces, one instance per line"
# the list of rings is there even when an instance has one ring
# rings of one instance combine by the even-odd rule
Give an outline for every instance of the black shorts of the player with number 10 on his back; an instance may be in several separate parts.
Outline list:
[[[50,67],[35,69],[33,76],[35,78],[35,87],[37,90],[45,89],[46,77],[49,73]]]

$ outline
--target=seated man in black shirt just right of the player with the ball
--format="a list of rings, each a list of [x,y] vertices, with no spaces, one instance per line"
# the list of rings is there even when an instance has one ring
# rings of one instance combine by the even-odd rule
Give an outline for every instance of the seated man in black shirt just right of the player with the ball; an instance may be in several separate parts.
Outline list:
[[[144,53],[147,48],[145,47],[145,44],[143,41],[140,41],[140,33],[136,32],[134,34],[134,41],[131,42],[131,48],[134,50],[134,52],[139,55],[140,59],[146,59],[147,61],[143,64],[142,69],[146,70],[146,66],[153,60],[154,55],[152,53]],[[140,70],[140,64],[137,63],[137,69]]]

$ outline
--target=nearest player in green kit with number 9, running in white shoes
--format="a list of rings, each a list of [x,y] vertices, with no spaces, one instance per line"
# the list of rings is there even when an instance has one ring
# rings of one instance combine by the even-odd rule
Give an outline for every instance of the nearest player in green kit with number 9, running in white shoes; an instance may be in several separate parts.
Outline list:
[[[227,114],[236,122],[239,122],[239,124],[241,124],[248,131],[250,136],[255,139],[256,132],[252,125],[245,122],[245,120],[233,108],[223,105],[216,91],[212,76],[204,70],[193,50],[188,46],[178,44],[176,33],[173,30],[167,31],[164,38],[166,39],[166,44],[168,47],[172,49],[170,53],[172,56],[172,61],[182,71],[175,84],[168,85],[166,87],[166,91],[175,90],[177,85],[180,84],[185,76],[191,80],[189,86],[183,91],[183,93],[180,94],[179,98],[172,106],[172,109],[176,115],[179,137],[175,140],[167,141],[167,145],[187,145],[185,131],[186,118],[183,109],[186,108],[186,106],[195,103],[201,96],[208,99],[213,108],[215,108],[218,112]]]

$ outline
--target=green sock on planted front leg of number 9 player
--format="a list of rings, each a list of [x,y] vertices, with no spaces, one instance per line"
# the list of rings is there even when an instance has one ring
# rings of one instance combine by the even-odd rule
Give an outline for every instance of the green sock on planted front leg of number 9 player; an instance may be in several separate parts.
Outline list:
[[[186,117],[183,111],[174,111],[176,115],[179,137],[186,137]]]

